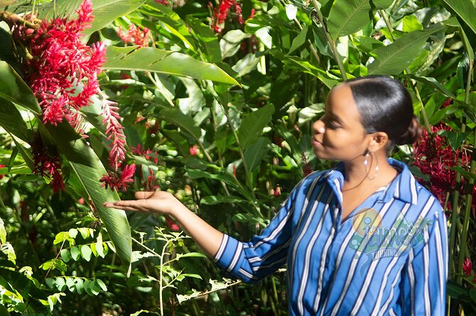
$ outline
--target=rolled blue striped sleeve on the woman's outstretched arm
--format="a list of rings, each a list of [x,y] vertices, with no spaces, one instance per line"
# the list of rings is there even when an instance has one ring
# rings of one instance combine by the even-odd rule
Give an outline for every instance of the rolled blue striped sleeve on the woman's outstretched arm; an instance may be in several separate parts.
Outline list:
[[[295,188],[269,225],[249,242],[224,235],[215,263],[245,283],[254,283],[286,262],[292,235]]]

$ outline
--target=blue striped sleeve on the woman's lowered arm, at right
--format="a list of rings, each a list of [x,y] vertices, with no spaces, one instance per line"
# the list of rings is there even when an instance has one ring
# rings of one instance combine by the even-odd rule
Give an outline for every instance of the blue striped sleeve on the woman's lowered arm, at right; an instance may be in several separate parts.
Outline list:
[[[428,226],[423,231],[423,245],[410,250],[402,271],[402,315],[445,315],[448,234],[443,210],[433,211]]]

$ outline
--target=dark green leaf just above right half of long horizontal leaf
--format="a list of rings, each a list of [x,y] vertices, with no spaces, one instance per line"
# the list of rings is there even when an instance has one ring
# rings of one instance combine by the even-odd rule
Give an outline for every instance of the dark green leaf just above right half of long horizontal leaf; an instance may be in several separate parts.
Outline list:
[[[210,26],[205,26],[198,18],[187,17],[188,26],[195,33],[198,40],[198,47],[203,52],[202,56],[208,62],[221,62],[222,52],[220,50],[220,43],[217,35],[210,29]]]

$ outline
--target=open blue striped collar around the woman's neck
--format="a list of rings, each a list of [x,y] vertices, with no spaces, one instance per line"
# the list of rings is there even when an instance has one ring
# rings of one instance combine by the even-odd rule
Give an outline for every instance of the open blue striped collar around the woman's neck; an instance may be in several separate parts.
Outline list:
[[[409,167],[407,167],[403,162],[393,158],[388,158],[387,161],[392,167],[399,170],[399,174],[388,186],[386,186],[385,191],[382,194],[382,202],[386,203],[390,201],[391,198],[396,198],[405,203],[416,204],[418,201],[416,193],[417,182],[413,174],[411,174]],[[343,171],[344,164],[340,162],[334,168],[330,169],[321,180],[327,180],[334,188],[339,184],[337,187],[339,195],[342,194],[340,191],[342,189],[342,184],[344,183]]]

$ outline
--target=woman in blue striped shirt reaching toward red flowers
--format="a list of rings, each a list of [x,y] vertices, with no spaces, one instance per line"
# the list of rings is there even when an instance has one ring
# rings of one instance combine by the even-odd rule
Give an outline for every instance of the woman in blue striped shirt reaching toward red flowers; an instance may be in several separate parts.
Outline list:
[[[124,210],[173,216],[218,266],[254,282],[287,263],[291,315],[443,315],[447,233],[443,210],[394,144],[420,132],[408,91],[362,77],[330,91],[312,145],[332,170],[305,177],[261,235],[218,232],[167,192],[138,192]]]

